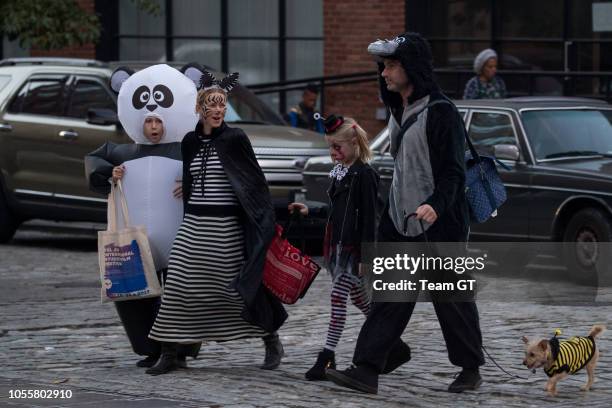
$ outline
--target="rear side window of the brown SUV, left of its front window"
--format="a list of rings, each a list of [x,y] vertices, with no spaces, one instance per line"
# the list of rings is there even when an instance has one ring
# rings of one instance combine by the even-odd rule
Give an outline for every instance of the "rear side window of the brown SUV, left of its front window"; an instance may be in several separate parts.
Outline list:
[[[34,78],[19,91],[9,106],[11,113],[59,116],[64,108],[64,78]]]

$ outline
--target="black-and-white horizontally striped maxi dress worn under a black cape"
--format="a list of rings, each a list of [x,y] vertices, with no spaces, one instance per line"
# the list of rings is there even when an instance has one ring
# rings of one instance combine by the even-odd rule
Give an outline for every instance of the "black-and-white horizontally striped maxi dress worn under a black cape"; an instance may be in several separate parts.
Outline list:
[[[149,337],[176,343],[262,337],[262,328],[240,316],[244,303],[229,287],[244,263],[239,202],[213,144],[202,141],[190,164],[191,196]]]

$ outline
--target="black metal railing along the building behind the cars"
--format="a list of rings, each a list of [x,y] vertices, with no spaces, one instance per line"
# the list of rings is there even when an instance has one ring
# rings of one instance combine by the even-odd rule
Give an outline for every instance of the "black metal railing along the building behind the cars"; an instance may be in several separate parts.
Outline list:
[[[438,68],[435,71],[438,83],[451,98],[461,99],[466,82],[474,76],[469,69]],[[612,103],[612,72],[566,72],[566,71],[533,71],[533,70],[500,70],[498,74],[504,79],[508,96],[564,95],[584,96],[603,99]],[[248,86],[256,94],[286,93],[302,90],[309,83],[315,83],[320,89],[320,110],[325,112],[325,89],[341,85],[356,85],[375,82],[376,71],[358,72],[344,75],[331,75],[301,78],[282,82],[268,82]],[[590,83],[579,86],[579,81]],[[595,86],[593,84],[596,83]],[[588,90],[586,92],[585,90]],[[281,98],[281,100],[283,100]],[[281,113],[287,107],[281,106]]]

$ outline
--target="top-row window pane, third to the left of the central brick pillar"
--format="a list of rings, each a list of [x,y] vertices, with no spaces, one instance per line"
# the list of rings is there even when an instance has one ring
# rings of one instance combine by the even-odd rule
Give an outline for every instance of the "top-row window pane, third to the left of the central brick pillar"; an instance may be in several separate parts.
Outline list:
[[[174,0],[172,29],[174,35],[221,35],[221,1]]]

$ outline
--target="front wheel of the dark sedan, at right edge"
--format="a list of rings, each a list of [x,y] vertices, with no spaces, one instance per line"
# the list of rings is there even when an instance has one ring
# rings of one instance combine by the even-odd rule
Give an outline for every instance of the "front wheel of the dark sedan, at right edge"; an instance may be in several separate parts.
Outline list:
[[[610,216],[597,208],[578,211],[567,224],[563,241],[565,265],[573,280],[590,286],[610,282]]]

